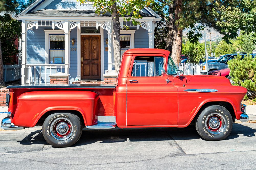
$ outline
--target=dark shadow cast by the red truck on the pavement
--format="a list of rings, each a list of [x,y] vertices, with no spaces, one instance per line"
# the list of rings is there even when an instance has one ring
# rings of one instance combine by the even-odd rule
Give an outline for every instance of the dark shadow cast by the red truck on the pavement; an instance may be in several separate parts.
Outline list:
[[[255,129],[242,124],[233,124],[230,136],[226,140],[238,138],[239,134],[246,137],[254,137]],[[87,145],[100,141],[99,143],[116,142],[138,142],[138,141],[167,141],[167,140],[193,140],[200,139],[195,126],[186,128],[144,128],[144,129],[120,129],[120,130],[86,130],[74,146]],[[204,139],[202,139],[204,140]],[[31,132],[22,141],[22,145],[47,144],[42,130]]]

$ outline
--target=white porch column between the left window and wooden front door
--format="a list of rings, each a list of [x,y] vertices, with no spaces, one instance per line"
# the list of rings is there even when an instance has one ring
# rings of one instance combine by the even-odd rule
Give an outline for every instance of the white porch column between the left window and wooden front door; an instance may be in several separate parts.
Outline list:
[[[64,29],[64,38],[65,38],[65,49],[64,49],[64,54],[65,54],[65,73],[68,74],[69,72],[69,63],[68,63],[68,59],[69,59],[69,23],[68,21],[64,21],[63,23],[63,29]]]

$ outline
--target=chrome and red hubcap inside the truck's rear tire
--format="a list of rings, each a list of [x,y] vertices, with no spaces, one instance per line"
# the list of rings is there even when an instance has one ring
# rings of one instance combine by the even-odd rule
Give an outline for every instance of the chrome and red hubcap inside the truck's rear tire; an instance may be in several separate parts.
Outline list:
[[[67,140],[73,133],[72,123],[64,117],[52,121],[50,131],[57,140]]]

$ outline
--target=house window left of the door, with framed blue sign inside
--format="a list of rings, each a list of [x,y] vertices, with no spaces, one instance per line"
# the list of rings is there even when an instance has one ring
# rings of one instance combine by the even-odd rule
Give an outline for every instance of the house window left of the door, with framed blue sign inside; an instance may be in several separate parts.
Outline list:
[[[50,64],[65,63],[64,35],[50,35]]]

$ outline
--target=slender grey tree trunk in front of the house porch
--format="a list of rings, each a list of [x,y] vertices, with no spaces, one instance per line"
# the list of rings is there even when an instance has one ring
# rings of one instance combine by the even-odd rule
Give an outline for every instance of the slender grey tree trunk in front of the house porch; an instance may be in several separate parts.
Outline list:
[[[116,3],[111,6],[111,16],[113,21],[113,47],[115,59],[115,72],[118,73],[121,65],[121,47],[120,47],[120,22],[117,14]]]

